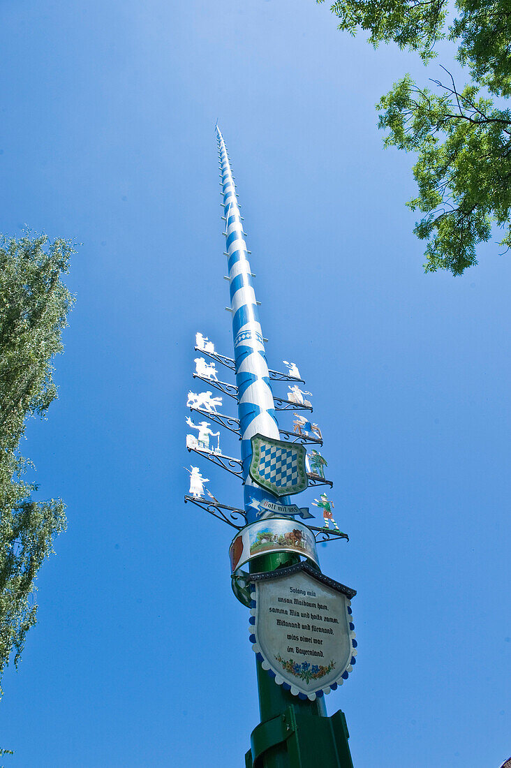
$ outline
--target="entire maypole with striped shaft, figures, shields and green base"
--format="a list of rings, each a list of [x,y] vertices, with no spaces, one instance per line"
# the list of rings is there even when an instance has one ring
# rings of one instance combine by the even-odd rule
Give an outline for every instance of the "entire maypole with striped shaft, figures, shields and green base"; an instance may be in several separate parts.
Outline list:
[[[187,448],[241,479],[244,509],[218,502],[204,489],[209,481],[198,467],[188,470],[185,501],[237,528],[229,552],[231,579],[234,594],[250,608],[260,704],[247,768],[352,768],[346,720],[341,711],[327,717],[324,695],[343,684],[355,663],[350,599],[356,592],[320,571],[316,547],[317,541],[347,535],[337,528],[326,493],[313,502],[323,510],[324,525],[296,519],[313,515],[295,505],[292,495],[311,485],[333,484],[324,476],[319,427],[297,413],[312,412],[297,366],[285,362],[288,372],[281,373],[267,365],[231,162],[218,126],[216,132],[234,359],[217,353],[197,333],[195,349],[211,362],[197,357],[194,378],[236,399],[237,419],[218,412],[222,396],[189,392],[187,406],[207,420],[197,425],[187,419],[198,433],[187,435]],[[218,379],[216,363],[234,372],[236,386]],[[271,382],[287,382],[287,397],[274,396]],[[279,429],[276,411],[294,412],[292,432]],[[240,459],[221,452],[220,432],[210,429],[211,422],[240,436]],[[210,437],[217,438],[216,446]]]

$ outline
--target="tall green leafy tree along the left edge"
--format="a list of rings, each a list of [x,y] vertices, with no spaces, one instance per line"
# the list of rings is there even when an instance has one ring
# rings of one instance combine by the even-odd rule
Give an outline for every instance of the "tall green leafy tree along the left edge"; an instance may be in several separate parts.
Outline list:
[[[35,578],[65,529],[60,499],[32,499],[19,443],[26,419],[44,416],[57,396],[51,360],[73,303],[61,281],[71,253],[71,243],[46,236],[0,241],[0,680],[11,657],[18,664],[36,621]]]

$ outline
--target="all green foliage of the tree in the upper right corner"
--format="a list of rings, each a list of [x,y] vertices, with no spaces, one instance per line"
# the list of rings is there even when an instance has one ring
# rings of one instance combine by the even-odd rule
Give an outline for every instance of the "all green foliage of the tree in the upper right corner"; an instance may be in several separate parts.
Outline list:
[[[324,0],[317,0],[324,2]],[[413,151],[419,194],[407,204],[423,214],[415,233],[426,240],[426,271],[463,273],[477,263],[476,247],[503,230],[499,244],[511,247],[511,3],[456,0],[447,25],[446,0],[338,0],[331,6],[339,28],[368,31],[375,48],[391,41],[436,56],[437,41],[457,45],[468,69],[462,89],[445,69],[434,80],[440,94],[420,88],[409,75],[380,99],[380,127],[387,147]]]

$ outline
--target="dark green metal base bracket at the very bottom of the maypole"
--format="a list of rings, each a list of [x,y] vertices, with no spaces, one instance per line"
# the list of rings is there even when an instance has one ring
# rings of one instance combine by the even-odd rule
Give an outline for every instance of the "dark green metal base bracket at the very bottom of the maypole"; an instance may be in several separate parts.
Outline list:
[[[251,735],[246,768],[353,768],[346,718],[318,717],[290,704]]]

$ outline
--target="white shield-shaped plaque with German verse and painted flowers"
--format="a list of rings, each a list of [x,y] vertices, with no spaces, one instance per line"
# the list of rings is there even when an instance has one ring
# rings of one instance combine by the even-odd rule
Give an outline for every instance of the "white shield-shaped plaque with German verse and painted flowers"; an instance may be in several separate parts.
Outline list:
[[[249,578],[250,639],[268,674],[311,701],[342,685],[357,655],[356,592],[307,563]]]

